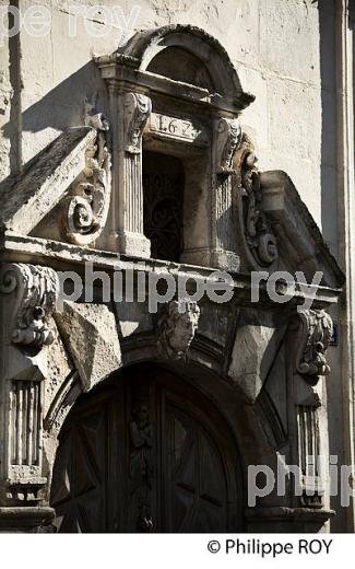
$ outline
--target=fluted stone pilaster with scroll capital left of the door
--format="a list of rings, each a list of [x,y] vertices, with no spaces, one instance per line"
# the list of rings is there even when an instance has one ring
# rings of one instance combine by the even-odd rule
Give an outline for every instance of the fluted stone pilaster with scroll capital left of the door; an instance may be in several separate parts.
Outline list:
[[[39,503],[47,481],[42,471],[44,380],[59,279],[49,267],[14,263],[3,267],[0,290],[10,329],[2,345],[0,498],[4,506],[29,507]]]

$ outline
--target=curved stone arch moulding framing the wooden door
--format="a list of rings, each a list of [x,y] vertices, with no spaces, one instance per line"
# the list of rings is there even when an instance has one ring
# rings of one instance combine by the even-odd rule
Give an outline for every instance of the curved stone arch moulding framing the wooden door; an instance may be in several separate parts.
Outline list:
[[[203,344],[203,342],[202,342]],[[271,464],[275,465],[275,451],[270,444],[262,421],[264,416],[259,413],[258,406],[249,405],[235,384],[232,378],[221,372],[221,368],[211,355],[206,355],[206,349],[196,347],[191,349],[187,362],[171,362],[157,358],[156,348],[147,345],[144,349],[131,347],[123,352],[123,363],[116,372],[108,378],[103,378],[98,384],[86,393],[93,393],[95,388],[108,384],[113,378],[120,376],[129,369],[134,369],[140,364],[153,365],[168,372],[173,372],[176,378],[181,380],[181,385],[189,385],[201,393],[201,397],[210,402],[221,415],[227,426],[229,436],[233,438],[240,460],[240,476],[244,500],[246,500],[247,472],[250,464]],[[48,498],[52,481],[52,472],[58,449],[59,434],[67,417],[73,416],[75,405],[83,392],[80,388],[80,380],[76,373],[68,378],[67,387],[57,399],[57,408],[52,411],[51,425],[47,423],[48,439],[47,444],[47,465],[48,465]],[[222,433],[223,437],[223,433]],[[49,441],[49,442],[48,442]],[[48,452],[49,451],[49,452]],[[244,503],[244,507],[247,506]]]

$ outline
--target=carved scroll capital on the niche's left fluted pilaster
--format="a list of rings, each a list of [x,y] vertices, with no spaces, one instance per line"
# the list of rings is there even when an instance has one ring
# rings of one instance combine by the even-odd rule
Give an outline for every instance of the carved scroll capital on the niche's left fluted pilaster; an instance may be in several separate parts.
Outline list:
[[[125,149],[139,154],[142,148],[142,133],[152,111],[152,102],[140,93],[125,94]]]

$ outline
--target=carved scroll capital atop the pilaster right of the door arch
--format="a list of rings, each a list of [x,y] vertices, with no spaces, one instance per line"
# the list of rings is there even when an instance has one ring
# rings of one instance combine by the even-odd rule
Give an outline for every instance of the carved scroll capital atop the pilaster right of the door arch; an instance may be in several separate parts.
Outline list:
[[[330,367],[326,352],[333,334],[333,323],[323,310],[305,310],[300,317],[299,344],[296,369],[309,383],[317,383],[321,375],[328,375]]]

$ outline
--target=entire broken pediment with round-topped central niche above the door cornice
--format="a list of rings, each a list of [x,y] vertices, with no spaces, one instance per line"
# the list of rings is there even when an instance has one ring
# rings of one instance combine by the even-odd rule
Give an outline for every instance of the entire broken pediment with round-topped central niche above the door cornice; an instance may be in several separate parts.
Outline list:
[[[253,96],[216,39],[166,26],[95,63],[109,150],[107,121],[86,113],[86,126],[60,135],[2,194],[5,231],[229,272],[298,270],[311,282],[321,271],[323,286],[341,287],[289,177],[259,172],[239,123]]]

